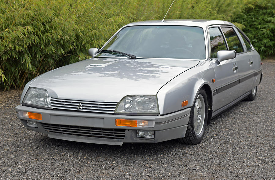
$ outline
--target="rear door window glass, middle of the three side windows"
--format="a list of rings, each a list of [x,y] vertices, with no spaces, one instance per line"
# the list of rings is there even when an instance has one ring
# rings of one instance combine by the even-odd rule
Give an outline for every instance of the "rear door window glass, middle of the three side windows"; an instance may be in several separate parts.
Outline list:
[[[233,28],[222,27],[222,32],[223,32],[224,36],[226,37],[228,48],[230,50],[235,50],[237,53],[243,52],[242,45],[241,45],[236,33],[234,32]]]

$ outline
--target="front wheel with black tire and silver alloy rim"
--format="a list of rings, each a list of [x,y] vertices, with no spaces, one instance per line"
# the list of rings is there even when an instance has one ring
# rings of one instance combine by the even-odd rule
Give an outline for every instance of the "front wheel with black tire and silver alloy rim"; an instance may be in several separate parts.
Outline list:
[[[204,88],[198,92],[193,106],[191,107],[187,130],[184,138],[178,141],[185,144],[198,144],[204,138],[207,126],[208,103]],[[200,121],[198,122],[198,118]]]

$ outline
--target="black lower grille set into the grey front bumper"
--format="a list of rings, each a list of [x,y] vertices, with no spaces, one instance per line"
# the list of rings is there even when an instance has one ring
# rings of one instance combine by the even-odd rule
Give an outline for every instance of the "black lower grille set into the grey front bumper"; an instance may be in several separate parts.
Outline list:
[[[86,126],[71,126],[60,124],[46,124],[41,123],[42,127],[47,132],[84,136],[102,139],[124,139],[125,129],[106,129],[106,128],[93,128]]]

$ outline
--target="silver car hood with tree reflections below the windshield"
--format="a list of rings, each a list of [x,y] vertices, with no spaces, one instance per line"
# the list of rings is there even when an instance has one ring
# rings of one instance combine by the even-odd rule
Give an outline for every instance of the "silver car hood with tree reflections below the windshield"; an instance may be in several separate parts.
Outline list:
[[[119,102],[126,95],[156,95],[199,61],[91,58],[49,71],[31,83],[60,99]]]

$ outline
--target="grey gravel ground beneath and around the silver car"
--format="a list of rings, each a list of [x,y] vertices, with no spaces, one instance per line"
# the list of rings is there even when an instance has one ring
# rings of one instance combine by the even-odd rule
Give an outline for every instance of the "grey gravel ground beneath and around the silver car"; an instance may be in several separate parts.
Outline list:
[[[0,179],[275,179],[275,61],[263,63],[255,100],[215,117],[194,146],[50,139],[17,119],[21,91],[0,92]]]

